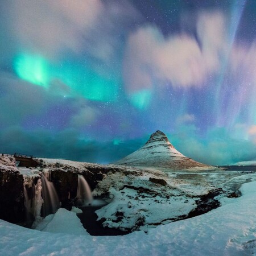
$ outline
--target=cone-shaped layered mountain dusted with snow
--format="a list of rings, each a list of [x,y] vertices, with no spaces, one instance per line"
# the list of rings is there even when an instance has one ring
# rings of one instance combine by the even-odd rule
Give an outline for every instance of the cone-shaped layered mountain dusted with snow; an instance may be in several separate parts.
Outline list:
[[[183,170],[195,167],[209,168],[206,164],[187,158],[169,142],[162,131],[156,131],[139,150],[115,162],[126,166],[163,167]]]

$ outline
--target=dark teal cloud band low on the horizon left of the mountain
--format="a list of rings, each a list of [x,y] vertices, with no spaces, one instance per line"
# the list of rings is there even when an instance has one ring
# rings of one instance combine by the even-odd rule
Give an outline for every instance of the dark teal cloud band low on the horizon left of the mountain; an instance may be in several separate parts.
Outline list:
[[[35,129],[33,133],[20,126],[1,130],[1,152],[34,155],[39,158],[69,159],[81,162],[114,162],[142,146],[143,141],[130,140],[121,144],[84,138],[76,129],[65,129],[52,134]]]

